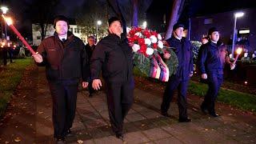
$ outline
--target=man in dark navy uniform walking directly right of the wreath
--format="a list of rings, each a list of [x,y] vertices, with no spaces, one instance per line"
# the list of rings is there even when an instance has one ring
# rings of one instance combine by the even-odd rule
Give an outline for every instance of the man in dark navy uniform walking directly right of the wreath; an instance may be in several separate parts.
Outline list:
[[[178,57],[178,69],[176,74],[172,75],[167,83],[165,93],[162,98],[161,113],[170,117],[167,113],[170,102],[174,96],[174,90],[178,88],[178,110],[179,122],[191,122],[187,117],[186,91],[190,77],[193,75],[193,54],[190,42],[182,37],[184,25],[176,23],[173,27],[172,37],[166,42],[175,48],[174,52]],[[170,54],[164,54],[164,58],[170,58]]]

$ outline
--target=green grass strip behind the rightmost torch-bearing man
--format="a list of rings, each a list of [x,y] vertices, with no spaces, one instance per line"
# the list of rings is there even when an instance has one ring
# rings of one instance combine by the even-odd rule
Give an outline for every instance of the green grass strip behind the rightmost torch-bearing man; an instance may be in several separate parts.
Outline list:
[[[189,90],[191,93],[203,97],[208,90],[208,86],[203,83],[190,81]],[[230,106],[237,106],[242,110],[256,112],[256,95],[254,94],[221,88],[218,92],[218,101],[229,104]]]

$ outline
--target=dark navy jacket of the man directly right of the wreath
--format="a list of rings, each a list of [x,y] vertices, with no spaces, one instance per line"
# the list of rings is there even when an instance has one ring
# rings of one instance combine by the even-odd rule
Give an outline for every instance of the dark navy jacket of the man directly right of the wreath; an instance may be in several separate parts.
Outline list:
[[[174,52],[178,57],[178,69],[174,77],[186,81],[190,79],[190,74],[194,70],[193,51],[190,42],[186,38],[179,40],[174,36],[167,39],[166,42],[174,47]]]

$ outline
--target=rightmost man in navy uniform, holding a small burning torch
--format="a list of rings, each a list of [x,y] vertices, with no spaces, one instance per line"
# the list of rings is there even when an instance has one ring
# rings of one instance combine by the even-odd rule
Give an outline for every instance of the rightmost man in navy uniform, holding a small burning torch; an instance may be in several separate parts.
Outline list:
[[[198,59],[201,77],[207,79],[209,86],[205,99],[202,102],[201,110],[205,114],[206,110],[208,110],[211,116],[218,117],[218,114],[215,113],[214,104],[218,90],[223,82],[224,62],[230,63],[230,66],[234,64],[230,62],[229,57],[226,55],[226,47],[219,44],[221,42],[218,42],[218,30],[215,27],[210,28],[208,36],[210,42],[202,46],[202,54]]]

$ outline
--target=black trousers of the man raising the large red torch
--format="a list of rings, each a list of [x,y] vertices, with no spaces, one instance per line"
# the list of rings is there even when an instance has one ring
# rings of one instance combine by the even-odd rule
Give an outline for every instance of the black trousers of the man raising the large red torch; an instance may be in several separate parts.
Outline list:
[[[53,100],[54,138],[66,136],[74,121],[78,82],[49,82]]]

